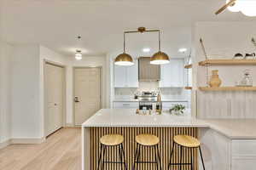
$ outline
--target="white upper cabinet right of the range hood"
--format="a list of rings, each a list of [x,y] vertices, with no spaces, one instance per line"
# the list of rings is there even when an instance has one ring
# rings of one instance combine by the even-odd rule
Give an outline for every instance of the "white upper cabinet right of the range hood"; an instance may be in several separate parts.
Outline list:
[[[182,88],[184,86],[184,59],[171,59],[161,65],[160,88]]]

